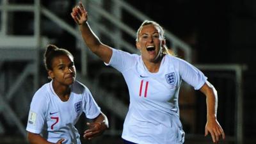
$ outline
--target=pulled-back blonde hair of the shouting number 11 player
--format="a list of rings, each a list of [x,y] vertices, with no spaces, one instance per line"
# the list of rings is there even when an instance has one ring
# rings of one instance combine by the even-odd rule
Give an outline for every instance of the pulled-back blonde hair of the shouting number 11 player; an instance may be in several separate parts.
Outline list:
[[[165,40],[165,38],[164,38],[164,29],[157,22],[152,21],[152,20],[144,20],[144,22],[142,22],[142,24],[140,25],[140,28],[138,28],[138,31],[136,33],[136,42],[138,42],[138,40],[139,40],[139,35],[140,35],[141,29],[143,28],[143,26],[147,26],[147,25],[150,25],[150,24],[159,28],[160,38]],[[162,53],[163,54],[174,55],[173,51],[168,49],[168,47],[165,44],[163,45]]]

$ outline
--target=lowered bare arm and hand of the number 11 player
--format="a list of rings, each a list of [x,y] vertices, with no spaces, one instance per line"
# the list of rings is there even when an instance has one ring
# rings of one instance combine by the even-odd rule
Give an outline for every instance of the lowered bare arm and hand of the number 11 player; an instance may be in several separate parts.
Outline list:
[[[210,132],[212,141],[214,143],[218,143],[221,136],[223,140],[225,139],[225,133],[217,120],[217,91],[215,90],[214,86],[209,83],[209,81],[206,81],[202,88],[200,88],[200,91],[205,94],[207,104],[207,123],[205,125],[205,136],[207,136]]]

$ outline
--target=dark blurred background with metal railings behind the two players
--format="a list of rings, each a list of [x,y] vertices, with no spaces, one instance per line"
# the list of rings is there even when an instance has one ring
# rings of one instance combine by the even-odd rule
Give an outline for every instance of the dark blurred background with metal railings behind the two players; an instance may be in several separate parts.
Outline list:
[[[0,0],[0,143],[28,143],[26,123],[33,93],[48,83],[43,65],[47,44],[75,56],[77,80],[84,83],[109,118],[110,128],[82,143],[122,143],[129,106],[122,75],[104,66],[81,40],[70,13],[78,1]],[[165,30],[167,46],[200,68],[218,90],[218,120],[227,139],[256,143],[255,0],[86,0],[89,23],[104,44],[131,53],[143,20]],[[205,97],[187,84],[180,89],[180,120],[186,142],[212,143],[204,137]],[[77,122],[83,133],[86,118]]]

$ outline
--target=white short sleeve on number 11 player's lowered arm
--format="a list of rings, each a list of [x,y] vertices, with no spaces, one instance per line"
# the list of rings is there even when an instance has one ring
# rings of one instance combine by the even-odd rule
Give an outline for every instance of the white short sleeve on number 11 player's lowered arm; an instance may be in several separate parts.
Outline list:
[[[187,61],[179,59],[179,74],[186,83],[199,90],[207,81],[207,77]]]

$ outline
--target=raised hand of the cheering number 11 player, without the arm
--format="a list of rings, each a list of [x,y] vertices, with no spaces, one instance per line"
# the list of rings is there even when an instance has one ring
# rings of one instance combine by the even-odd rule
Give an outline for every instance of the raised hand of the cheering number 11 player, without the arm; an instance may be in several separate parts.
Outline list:
[[[81,1],[79,1],[79,4],[72,9],[72,13],[70,14],[79,25],[84,25],[88,20],[87,11],[84,9]]]

